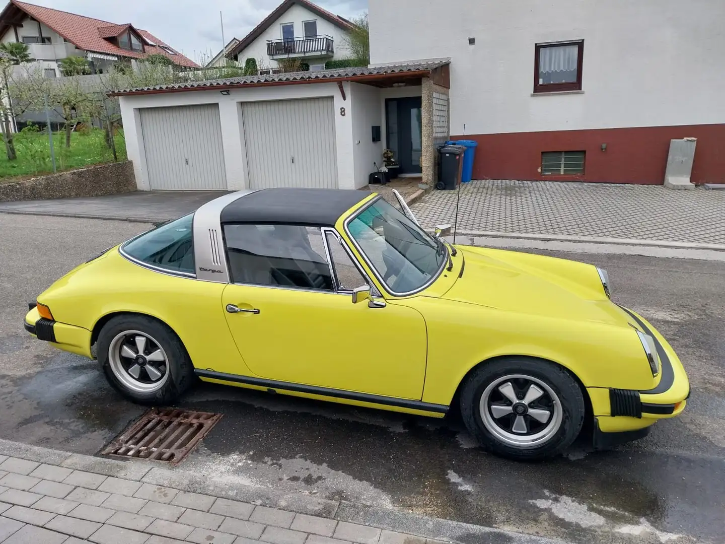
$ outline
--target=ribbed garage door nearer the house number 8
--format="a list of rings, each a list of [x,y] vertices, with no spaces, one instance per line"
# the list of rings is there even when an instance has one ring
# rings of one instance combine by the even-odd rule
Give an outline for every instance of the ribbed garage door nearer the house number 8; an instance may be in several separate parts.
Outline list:
[[[330,98],[242,104],[249,187],[337,188]]]

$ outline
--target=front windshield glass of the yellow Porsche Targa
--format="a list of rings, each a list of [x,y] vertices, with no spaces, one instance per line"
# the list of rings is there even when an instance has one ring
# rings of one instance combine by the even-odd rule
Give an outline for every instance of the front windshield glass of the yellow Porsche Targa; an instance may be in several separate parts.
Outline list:
[[[347,223],[349,235],[394,294],[418,291],[442,271],[447,250],[384,199]]]

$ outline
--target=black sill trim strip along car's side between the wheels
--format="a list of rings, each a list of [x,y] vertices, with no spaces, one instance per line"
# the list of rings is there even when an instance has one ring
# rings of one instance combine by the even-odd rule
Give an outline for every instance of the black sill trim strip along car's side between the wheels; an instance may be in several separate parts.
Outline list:
[[[448,406],[443,404],[423,403],[421,400],[407,400],[395,397],[384,397],[382,395],[370,395],[369,393],[357,393],[352,391],[343,391],[339,389],[328,389],[327,387],[317,387],[315,385],[291,384],[289,382],[277,382],[272,379],[252,378],[251,376],[238,376],[236,374],[224,374],[223,372],[215,372],[211,370],[196,369],[196,376],[202,378],[220,379],[224,382],[236,382],[239,384],[257,385],[259,387],[267,387],[270,392],[274,390],[296,391],[300,393],[308,393],[310,395],[323,395],[325,397],[345,398],[349,400],[357,400],[363,403],[381,404],[386,406],[397,406],[399,408],[408,408],[410,410],[421,410],[424,412],[448,413]]]

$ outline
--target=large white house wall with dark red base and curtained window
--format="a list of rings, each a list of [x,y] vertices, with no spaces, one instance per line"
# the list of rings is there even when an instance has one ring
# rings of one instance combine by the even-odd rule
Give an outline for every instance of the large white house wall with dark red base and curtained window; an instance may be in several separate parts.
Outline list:
[[[692,136],[692,182],[725,183],[724,21],[712,0],[369,0],[370,60],[451,59],[475,178],[663,184]]]

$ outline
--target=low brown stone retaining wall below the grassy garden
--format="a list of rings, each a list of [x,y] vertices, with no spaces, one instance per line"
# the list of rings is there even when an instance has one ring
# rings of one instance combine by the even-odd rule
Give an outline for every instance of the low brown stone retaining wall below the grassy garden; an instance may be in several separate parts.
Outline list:
[[[126,160],[9,184],[0,183],[0,202],[99,197],[132,191],[136,191],[136,177],[133,175],[133,163]]]

